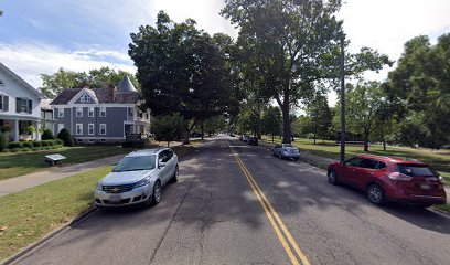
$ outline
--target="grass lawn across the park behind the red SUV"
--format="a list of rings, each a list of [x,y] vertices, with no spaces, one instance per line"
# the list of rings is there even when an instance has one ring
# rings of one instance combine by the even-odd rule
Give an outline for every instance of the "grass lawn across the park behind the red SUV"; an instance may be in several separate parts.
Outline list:
[[[271,142],[271,138],[264,137],[265,141]],[[281,142],[281,139],[276,138],[277,144]],[[339,160],[341,147],[334,141],[322,141],[318,140],[317,145],[313,144],[311,139],[296,139],[292,142],[301,151],[308,153],[323,156],[332,159]],[[352,156],[363,153],[363,146],[358,145],[346,145],[345,146],[345,158],[351,158]],[[426,148],[414,149],[407,147],[387,147],[386,151],[383,150],[383,146],[372,145],[368,148],[369,153],[377,156],[388,156],[388,157],[400,157],[400,158],[411,158],[418,159],[420,161],[431,165],[432,168],[439,171],[439,173],[444,178],[446,184],[450,184],[450,150],[438,150],[433,151]]]

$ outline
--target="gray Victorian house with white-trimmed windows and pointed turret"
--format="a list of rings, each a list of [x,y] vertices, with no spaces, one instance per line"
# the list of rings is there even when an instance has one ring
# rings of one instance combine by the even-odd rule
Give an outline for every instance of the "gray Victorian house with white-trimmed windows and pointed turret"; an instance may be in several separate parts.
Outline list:
[[[150,134],[150,113],[139,109],[140,93],[125,76],[119,86],[67,88],[50,105],[55,134],[66,128],[77,142],[120,142]]]

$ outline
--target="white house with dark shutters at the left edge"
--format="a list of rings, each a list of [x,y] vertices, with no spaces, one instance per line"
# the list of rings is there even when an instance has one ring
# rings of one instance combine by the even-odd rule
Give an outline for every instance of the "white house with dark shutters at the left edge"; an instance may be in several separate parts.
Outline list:
[[[10,140],[40,140],[42,98],[38,89],[0,63],[0,129]],[[29,126],[35,130],[31,135],[25,131]]]

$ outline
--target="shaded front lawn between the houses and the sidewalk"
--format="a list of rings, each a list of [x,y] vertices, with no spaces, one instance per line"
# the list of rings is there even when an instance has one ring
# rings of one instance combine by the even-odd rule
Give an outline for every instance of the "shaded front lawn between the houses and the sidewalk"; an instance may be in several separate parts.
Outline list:
[[[64,147],[61,149],[36,152],[1,152],[0,153],[0,180],[47,169],[49,163],[44,157],[51,153],[61,153],[66,160],[61,166],[87,162],[99,158],[128,153],[132,149],[119,146],[89,146],[89,147]]]

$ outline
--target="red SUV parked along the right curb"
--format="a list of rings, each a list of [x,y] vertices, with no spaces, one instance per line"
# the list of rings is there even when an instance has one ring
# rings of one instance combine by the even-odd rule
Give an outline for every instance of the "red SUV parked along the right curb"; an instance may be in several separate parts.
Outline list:
[[[429,206],[447,200],[442,177],[417,160],[358,155],[344,165],[331,163],[328,179],[331,184],[345,183],[365,191],[378,205],[400,201]]]

